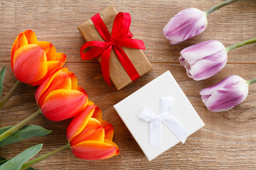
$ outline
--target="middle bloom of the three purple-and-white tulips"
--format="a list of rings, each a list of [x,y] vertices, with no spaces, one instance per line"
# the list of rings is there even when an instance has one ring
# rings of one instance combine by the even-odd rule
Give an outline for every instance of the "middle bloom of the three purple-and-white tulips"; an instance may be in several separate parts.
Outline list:
[[[188,77],[197,81],[220,72],[227,60],[225,47],[218,40],[209,40],[186,47],[179,57],[181,65],[186,68]]]

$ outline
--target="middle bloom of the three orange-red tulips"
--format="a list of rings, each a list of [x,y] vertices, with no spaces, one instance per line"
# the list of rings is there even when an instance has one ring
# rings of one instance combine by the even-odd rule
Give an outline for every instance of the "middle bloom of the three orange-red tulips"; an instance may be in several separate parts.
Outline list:
[[[73,118],[87,106],[87,94],[68,68],[53,73],[36,91],[36,102],[49,120]]]

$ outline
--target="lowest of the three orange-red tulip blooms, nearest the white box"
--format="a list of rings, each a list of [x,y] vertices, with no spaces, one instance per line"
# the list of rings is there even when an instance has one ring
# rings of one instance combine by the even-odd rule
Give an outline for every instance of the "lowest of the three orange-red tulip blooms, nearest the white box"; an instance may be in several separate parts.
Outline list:
[[[107,159],[119,154],[112,142],[114,129],[102,120],[98,106],[87,106],[76,116],[67,130],[68,141],[75,157],[86,160]]]

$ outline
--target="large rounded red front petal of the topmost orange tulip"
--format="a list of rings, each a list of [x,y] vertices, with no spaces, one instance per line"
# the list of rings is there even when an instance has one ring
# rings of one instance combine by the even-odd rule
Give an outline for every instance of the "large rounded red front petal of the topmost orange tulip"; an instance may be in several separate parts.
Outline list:
[[[14,55],[14,75],[16,79],[31,84],[46,76],[46,53],[38,45],[23,45]]]

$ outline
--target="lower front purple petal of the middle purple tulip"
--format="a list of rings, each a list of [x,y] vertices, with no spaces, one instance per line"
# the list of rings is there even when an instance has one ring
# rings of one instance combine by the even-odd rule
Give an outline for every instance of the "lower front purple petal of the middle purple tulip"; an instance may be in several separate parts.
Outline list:
[[[189,72],[194,80],[208,79],[220,72],[225,67],[227,60],[227,52],[220,50],[211,56],[198,60],[198,62],[191,65]]]

